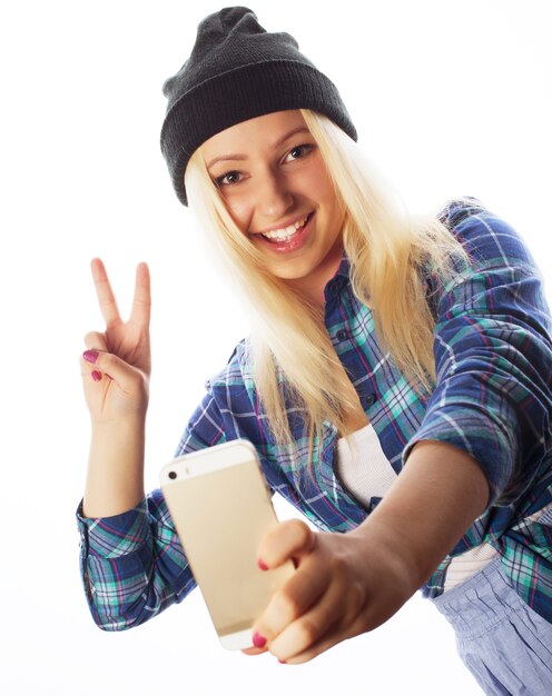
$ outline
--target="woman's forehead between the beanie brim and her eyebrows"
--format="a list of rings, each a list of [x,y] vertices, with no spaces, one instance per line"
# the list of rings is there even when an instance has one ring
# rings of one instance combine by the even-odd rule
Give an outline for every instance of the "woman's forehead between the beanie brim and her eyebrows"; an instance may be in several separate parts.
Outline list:
[[[230,126],[216,133],[201,146],[207,162],[229,155],[247,156],[259,149],[272,149],[300,130],[308,131],[298,110],[276,111]]]

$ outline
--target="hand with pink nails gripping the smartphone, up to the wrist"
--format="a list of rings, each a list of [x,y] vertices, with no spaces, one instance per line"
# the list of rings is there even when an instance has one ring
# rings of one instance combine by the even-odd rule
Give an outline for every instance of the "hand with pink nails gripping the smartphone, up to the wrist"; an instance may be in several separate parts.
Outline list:
[[[369,550],[368,550],[369,548]],[[391,618],[415,591],[401,559],[355,534],[315,533],[305,523],[280,523],[264,539],[266,568],[293,559],[296,571],[273,596],[253,632],[257,647],[300,664]]]

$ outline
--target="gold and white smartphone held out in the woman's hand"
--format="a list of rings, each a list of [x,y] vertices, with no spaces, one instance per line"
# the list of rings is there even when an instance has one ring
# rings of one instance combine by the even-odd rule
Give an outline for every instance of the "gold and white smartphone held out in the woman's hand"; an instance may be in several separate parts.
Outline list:
[[[252,626],[294,573],[260,570],[259,544],[278,520],[255,447],[231,440],[165,465],[161,490],[220,643],[252,646]]]

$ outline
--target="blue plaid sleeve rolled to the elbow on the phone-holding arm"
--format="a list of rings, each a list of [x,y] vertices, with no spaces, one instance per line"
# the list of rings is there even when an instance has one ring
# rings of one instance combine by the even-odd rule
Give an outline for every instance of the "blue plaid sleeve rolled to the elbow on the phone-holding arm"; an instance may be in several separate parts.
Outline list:
[[[475,208],[453,232],[472,264],[435,298],[436,386],[403,464],[417,441],[448,443],[483,468],[489,504],[506,505],[530,487],[551,447],[550,310],[512,227]]]

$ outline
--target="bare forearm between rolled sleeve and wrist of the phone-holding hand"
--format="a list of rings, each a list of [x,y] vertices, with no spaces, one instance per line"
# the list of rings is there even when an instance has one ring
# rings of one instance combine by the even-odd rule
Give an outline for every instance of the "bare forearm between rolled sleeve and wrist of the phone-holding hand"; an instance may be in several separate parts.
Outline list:
[[[404,560],[412,591],[432,575],[485,509],[489,484],[463,450],[418,443],[393,488],[353,534]]]

